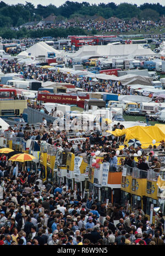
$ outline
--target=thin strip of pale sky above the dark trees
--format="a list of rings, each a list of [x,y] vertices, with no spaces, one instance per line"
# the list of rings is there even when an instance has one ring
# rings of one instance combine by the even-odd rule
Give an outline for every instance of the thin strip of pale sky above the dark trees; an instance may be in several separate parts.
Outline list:
[[[62,4],[64,4],[67,0],[2,0],[4,3],[7,4],[17,4],[17,3],[22,3],[25,4],[26,2],[30,2],[32,4],[34,4],[34,6],[36,7],[37,4],[42,4],[42,6],[47,6],[48,4],[54,4],[54,6],[61,6]],[[138,6],[140,6],[140,4],[144,4],[144,3],[160,3],[162,4],[162,6],[165,5],[165,1],[164,0],[71,0],[71,2],[89,2],[90,4],[98,4],[98,3],[111,3],[114,2],[117,5],[120,3],[131,3],[131,4],[137,4]]]

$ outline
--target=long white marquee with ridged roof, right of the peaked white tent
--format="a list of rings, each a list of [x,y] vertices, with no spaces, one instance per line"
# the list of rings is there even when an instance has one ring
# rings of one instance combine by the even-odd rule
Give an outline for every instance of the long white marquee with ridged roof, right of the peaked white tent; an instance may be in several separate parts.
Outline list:
[[[151,49],[144,49],[140,44],[121,44],[121,45],[85,45],[76,53],[70,55],[72,58],[88,56],[109,56],[122,57],[128,56],[155,56]]]

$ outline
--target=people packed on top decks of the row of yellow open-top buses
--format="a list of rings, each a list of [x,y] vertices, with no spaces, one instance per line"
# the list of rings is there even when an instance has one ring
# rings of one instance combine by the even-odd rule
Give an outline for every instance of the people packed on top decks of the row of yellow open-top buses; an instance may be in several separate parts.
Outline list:
[[[108,122],[105,123],[105,128],[108,127]],[[114,124],[112,130],[124,129],[123,124]],[[156,179],[161,170],[161,162],[163,160],[155,153],[157,151],[163,151],[165,147],[164,141],[156,147],[156,145],[149,145],[146,150],[142,149],[140,145],[134,147],[133,145],[124,145],[123,149],[119,148],[119,144],[124,143],[125,135],[122,137],[116,137],[114,135],[102,135],[102,132],[94,126],[93,130],[89,131],[87,135],[83,130],[65,130],[60,127],[54,128],[53,123],[47,125],[47,121],[43,118],[42,124],[39,127],[31,126],[26,123],[25,126],[21,124],[18,128],[17,124],[14,127],[9,127],[10,137],[16,137],[19,141],[23,139],[25,142],[28,139],[36,140],[36,150],[40,151],[40,145],[43,142],[47,142],[54,148],[62,148],[63,153],[67,156],[68,152],[72,152],[75,155],[82,156],[85,163],[88,162],[88,158],[91,154],[98,151],[99,156],[102,156],[103,162],[109,162],[109,171],[122,171],[122,166],[129,166],[132,168],[138,168],[141,170],[141,176],[147,177],[148,171],[155,173]],[[70,134],[72,137],[70,138]],[[76,143],[76,138],[80,138],[79,143]],[[82,138],[82,139],[81,139]],[[118,164],[117,155],[120,156],[120,163]],[[135,161],[135,158],[138,160]],[[63,163],[66,163],[67,158],[63,159]]]

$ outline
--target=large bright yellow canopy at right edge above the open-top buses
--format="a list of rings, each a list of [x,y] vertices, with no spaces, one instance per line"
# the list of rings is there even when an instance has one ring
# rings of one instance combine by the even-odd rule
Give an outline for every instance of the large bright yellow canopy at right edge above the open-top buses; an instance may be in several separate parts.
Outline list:
[[[107,132],[112,133],[114,136],[125,135],[124,144],[127,144],[130,139],[140,140],[142,147],[146,145],[147,147],[152,143],[152,140],[156,140],[155,145],[159,145],[162,140],[165,141],[165,125],[156,124],[155,126],[134,126],[127,129],[116,129],[114,131]]]

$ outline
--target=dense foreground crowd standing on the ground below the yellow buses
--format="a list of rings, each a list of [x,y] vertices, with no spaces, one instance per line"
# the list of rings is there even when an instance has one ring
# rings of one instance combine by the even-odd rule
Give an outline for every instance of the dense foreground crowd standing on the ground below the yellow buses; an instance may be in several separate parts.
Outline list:
[[[156,224],[150,223],[141,207],[106,208],[91,195],[84,198],[81,191],[50,181],[42,186],[38,175],[15,169],[12,164],[0,171],[0,245],[164,244],[161,212]]]

